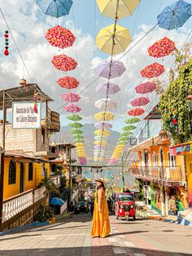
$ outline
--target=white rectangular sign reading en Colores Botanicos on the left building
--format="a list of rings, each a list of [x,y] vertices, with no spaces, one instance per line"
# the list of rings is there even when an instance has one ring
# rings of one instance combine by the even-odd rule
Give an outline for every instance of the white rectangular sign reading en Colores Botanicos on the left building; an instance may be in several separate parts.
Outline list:
[[[41,128],[41,104],[37,103],[37,112],[34,111],[34,102],[12,103],[13,129]]]

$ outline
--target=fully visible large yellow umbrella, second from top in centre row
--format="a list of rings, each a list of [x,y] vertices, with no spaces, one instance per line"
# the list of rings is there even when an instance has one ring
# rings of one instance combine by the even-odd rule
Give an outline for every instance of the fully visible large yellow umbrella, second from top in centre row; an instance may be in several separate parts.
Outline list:
[[[126,50],[127,46],[129,46],[129,43],[131,42],[129,30],[120,25],[116,25],[115,38],[114,33],[115,24],[107,26],[99,31],[95,41],[100,51],[106,52],[110,55],[111,53],[116,55]],[[112,47],[113,44],[114,47]]]

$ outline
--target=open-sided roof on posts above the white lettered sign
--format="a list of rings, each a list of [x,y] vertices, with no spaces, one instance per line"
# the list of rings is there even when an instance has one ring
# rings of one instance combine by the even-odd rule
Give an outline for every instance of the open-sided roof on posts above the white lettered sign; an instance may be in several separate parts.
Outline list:
[[[46,93],[44,93],[37,84],[27,84],[28,90],[22,86],[17,86],[9,89],[0,90],[0,110],[3,106],[3,92],[6,92],[7,108],[12,107],[12,102],[18,101],[33,101],[34,90],[37,90],[37,101],[53,101]],[[21,90],[23,89],[23,90]]]

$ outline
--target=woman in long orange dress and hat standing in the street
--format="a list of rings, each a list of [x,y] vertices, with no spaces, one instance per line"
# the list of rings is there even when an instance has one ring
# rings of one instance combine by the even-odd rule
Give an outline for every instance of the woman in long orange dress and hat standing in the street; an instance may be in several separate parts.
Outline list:
[[[110,234],[110,222],[107,201],[105,199],[104,180],[95,179],[97,191],[94,201],[94,218],[91,227],[92,237],[106,237]]]

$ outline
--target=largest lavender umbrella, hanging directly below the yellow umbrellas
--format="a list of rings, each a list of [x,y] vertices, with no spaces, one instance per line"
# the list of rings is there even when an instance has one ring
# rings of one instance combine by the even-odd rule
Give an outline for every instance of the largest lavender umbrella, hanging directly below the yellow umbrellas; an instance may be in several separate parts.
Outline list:
[[[102,64],[98,65],[97,68],[95,68],[95,72],[98,73],[99,77],[105,77],[109,78],[110,73],[110,63],[111,63],[111,76],[110,78],[120,77],[122,73],[126,70],[124,68],[123,62],[117,61],[117,60],[105,60]]]

